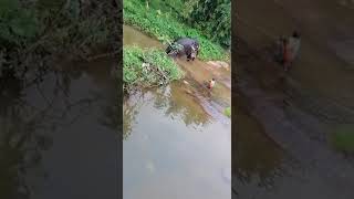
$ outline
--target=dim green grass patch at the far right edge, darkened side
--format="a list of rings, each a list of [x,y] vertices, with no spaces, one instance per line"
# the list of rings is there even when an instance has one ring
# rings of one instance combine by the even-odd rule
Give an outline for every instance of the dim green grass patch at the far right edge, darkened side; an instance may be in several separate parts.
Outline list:
[[[354,125],[341,126],[331,135],[330,140],[335,149],[354,153]]]

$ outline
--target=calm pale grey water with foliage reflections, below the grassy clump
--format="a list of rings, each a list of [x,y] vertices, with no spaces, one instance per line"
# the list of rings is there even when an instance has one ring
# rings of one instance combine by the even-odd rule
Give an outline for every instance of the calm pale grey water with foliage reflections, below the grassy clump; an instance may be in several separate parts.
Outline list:
[[[132,94],[124,114],[125,199],[231,197],[231,126],[178,83]]]

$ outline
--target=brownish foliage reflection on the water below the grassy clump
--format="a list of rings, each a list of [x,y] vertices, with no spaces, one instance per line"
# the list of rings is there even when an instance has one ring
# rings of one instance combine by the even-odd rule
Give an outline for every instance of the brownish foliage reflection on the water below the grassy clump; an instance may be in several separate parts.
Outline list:
[[[186,126],[201,127],[208,124],[210,116],[202,109],[198,101],[188,95],[181,83],[159,90],[145,90],[132,94],[124,101],[124,132],[132,132],[138,111],[144,106],[142,102],[154,102],[156,109],[164,109],[164,115],[171,119],[180,118]]]

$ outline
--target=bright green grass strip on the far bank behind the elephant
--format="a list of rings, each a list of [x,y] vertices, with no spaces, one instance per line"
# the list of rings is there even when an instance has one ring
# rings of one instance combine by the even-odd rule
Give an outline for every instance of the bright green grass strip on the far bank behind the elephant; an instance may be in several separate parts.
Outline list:
[[[169,13],[162,13],[155,9],[147,9],[138,0],[124,1],[124,23],[138,28],[148,35],[158,39],[167,44],[181,36],[197,39],[200,44],[198,57],[208,60],[227,60],[228,53],[216,43],[212,43],[207,36],[202,35],[197,29],[192,29]]]

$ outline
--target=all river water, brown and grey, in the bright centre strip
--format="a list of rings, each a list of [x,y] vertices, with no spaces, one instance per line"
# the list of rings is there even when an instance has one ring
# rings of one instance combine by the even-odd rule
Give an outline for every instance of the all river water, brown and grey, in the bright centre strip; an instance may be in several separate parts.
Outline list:
[[[164,51],[137,29],[123,31],[124,48]],[[124,101],[124,198],[230,198],[231,123],[223,112],[231,92],[222,83],[230,80],[229,65],[170,61],[184,81],[138,90]],[[211,76],[217,84],[208,90]]]

